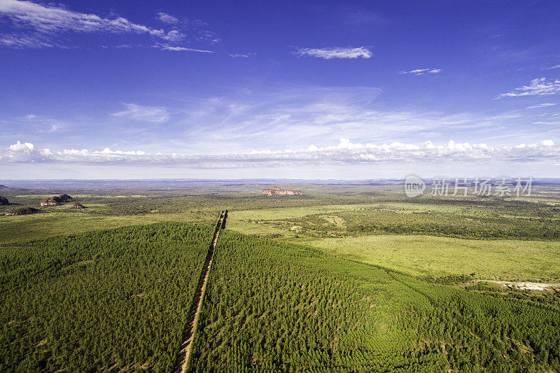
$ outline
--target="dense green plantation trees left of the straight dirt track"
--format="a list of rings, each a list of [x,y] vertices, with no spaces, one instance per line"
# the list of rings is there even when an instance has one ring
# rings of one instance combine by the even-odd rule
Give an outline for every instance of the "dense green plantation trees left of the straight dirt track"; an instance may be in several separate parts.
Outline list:
[[[0,251],[0,371],[169,372],[209,227],[162,223]]]

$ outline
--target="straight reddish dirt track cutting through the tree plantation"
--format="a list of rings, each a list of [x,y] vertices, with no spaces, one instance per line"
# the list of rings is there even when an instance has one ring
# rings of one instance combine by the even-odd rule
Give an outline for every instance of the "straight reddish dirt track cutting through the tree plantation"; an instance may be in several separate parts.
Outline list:
[[[179,354],[177,355],[174,372],[183,373],[187,369],[188,358],[190,355],[190,346],[192,346],[193,344],[193,337],[195,336],[195,332],[197,330],[198,316],[200,315],[200,309],[202,309],[202,300],[204,299],[204,290],[206,290],[208,274],[210,272],[210,266],[212,264],[212,257],[214,257],[214,248],[216,248],[216,241],[218,241],[220,230],[225,227],[225,218],[227,216],[228,210],[222,211],[220,214],[220,219],[216,224],[214,238],[212,239],[210,247],[208,248],[206,260],[204,261],[204,267],[202,268],[202,272],[200,273],[200,279],[198,280],[193,304],[190,305],[187,325],[183,332],[183,342],[181,343],[181,349],[179,349]]]

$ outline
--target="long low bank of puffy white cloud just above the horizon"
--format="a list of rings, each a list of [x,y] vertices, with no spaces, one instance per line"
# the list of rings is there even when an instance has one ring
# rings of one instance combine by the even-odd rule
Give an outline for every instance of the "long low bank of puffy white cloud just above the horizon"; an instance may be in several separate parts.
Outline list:
[[[349,139],[339,139],[336,146],[318,148],[311,145],[295,150],[252,150],[244,153],[223,155],[205,154],[162,154],[146,153],[142,150],[76,150],[64,149],[53,152],[50,149],[37,150],[31,143],[15,143],[0,150],[2,162],[62,162],[62,163],[137,163],[182,165],[193,168],[285,166],[288,164],[379,164],[391,162],[480,162],[481,160],[503,160],[509,162],[531,162],[557,160],[560,146],[554,141],[544,140],[540,144],[519,144],[518,146],[488,146],[486,143],[456,143],[434,145],[431,141],[422,144],[352,143]]]

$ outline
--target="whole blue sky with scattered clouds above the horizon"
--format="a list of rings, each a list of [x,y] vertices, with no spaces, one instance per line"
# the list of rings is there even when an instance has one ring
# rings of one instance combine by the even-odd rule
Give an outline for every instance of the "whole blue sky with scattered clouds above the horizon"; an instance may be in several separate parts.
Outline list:
[[[558,177],[559,14],[0,0],[0,178]]]

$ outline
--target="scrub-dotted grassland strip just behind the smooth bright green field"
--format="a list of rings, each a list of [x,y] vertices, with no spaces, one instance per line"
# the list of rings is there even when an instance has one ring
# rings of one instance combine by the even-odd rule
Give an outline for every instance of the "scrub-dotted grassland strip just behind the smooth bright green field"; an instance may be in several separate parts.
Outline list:
[[[465,239],[560,239],[560,209],[547,204],[500,201],[346,204],[233,211],[239,230],[265,224],[314,237],[429,234]],[[244,224],[248,223],[248,224]],[[295,227],[295,229],[294,229]]]

